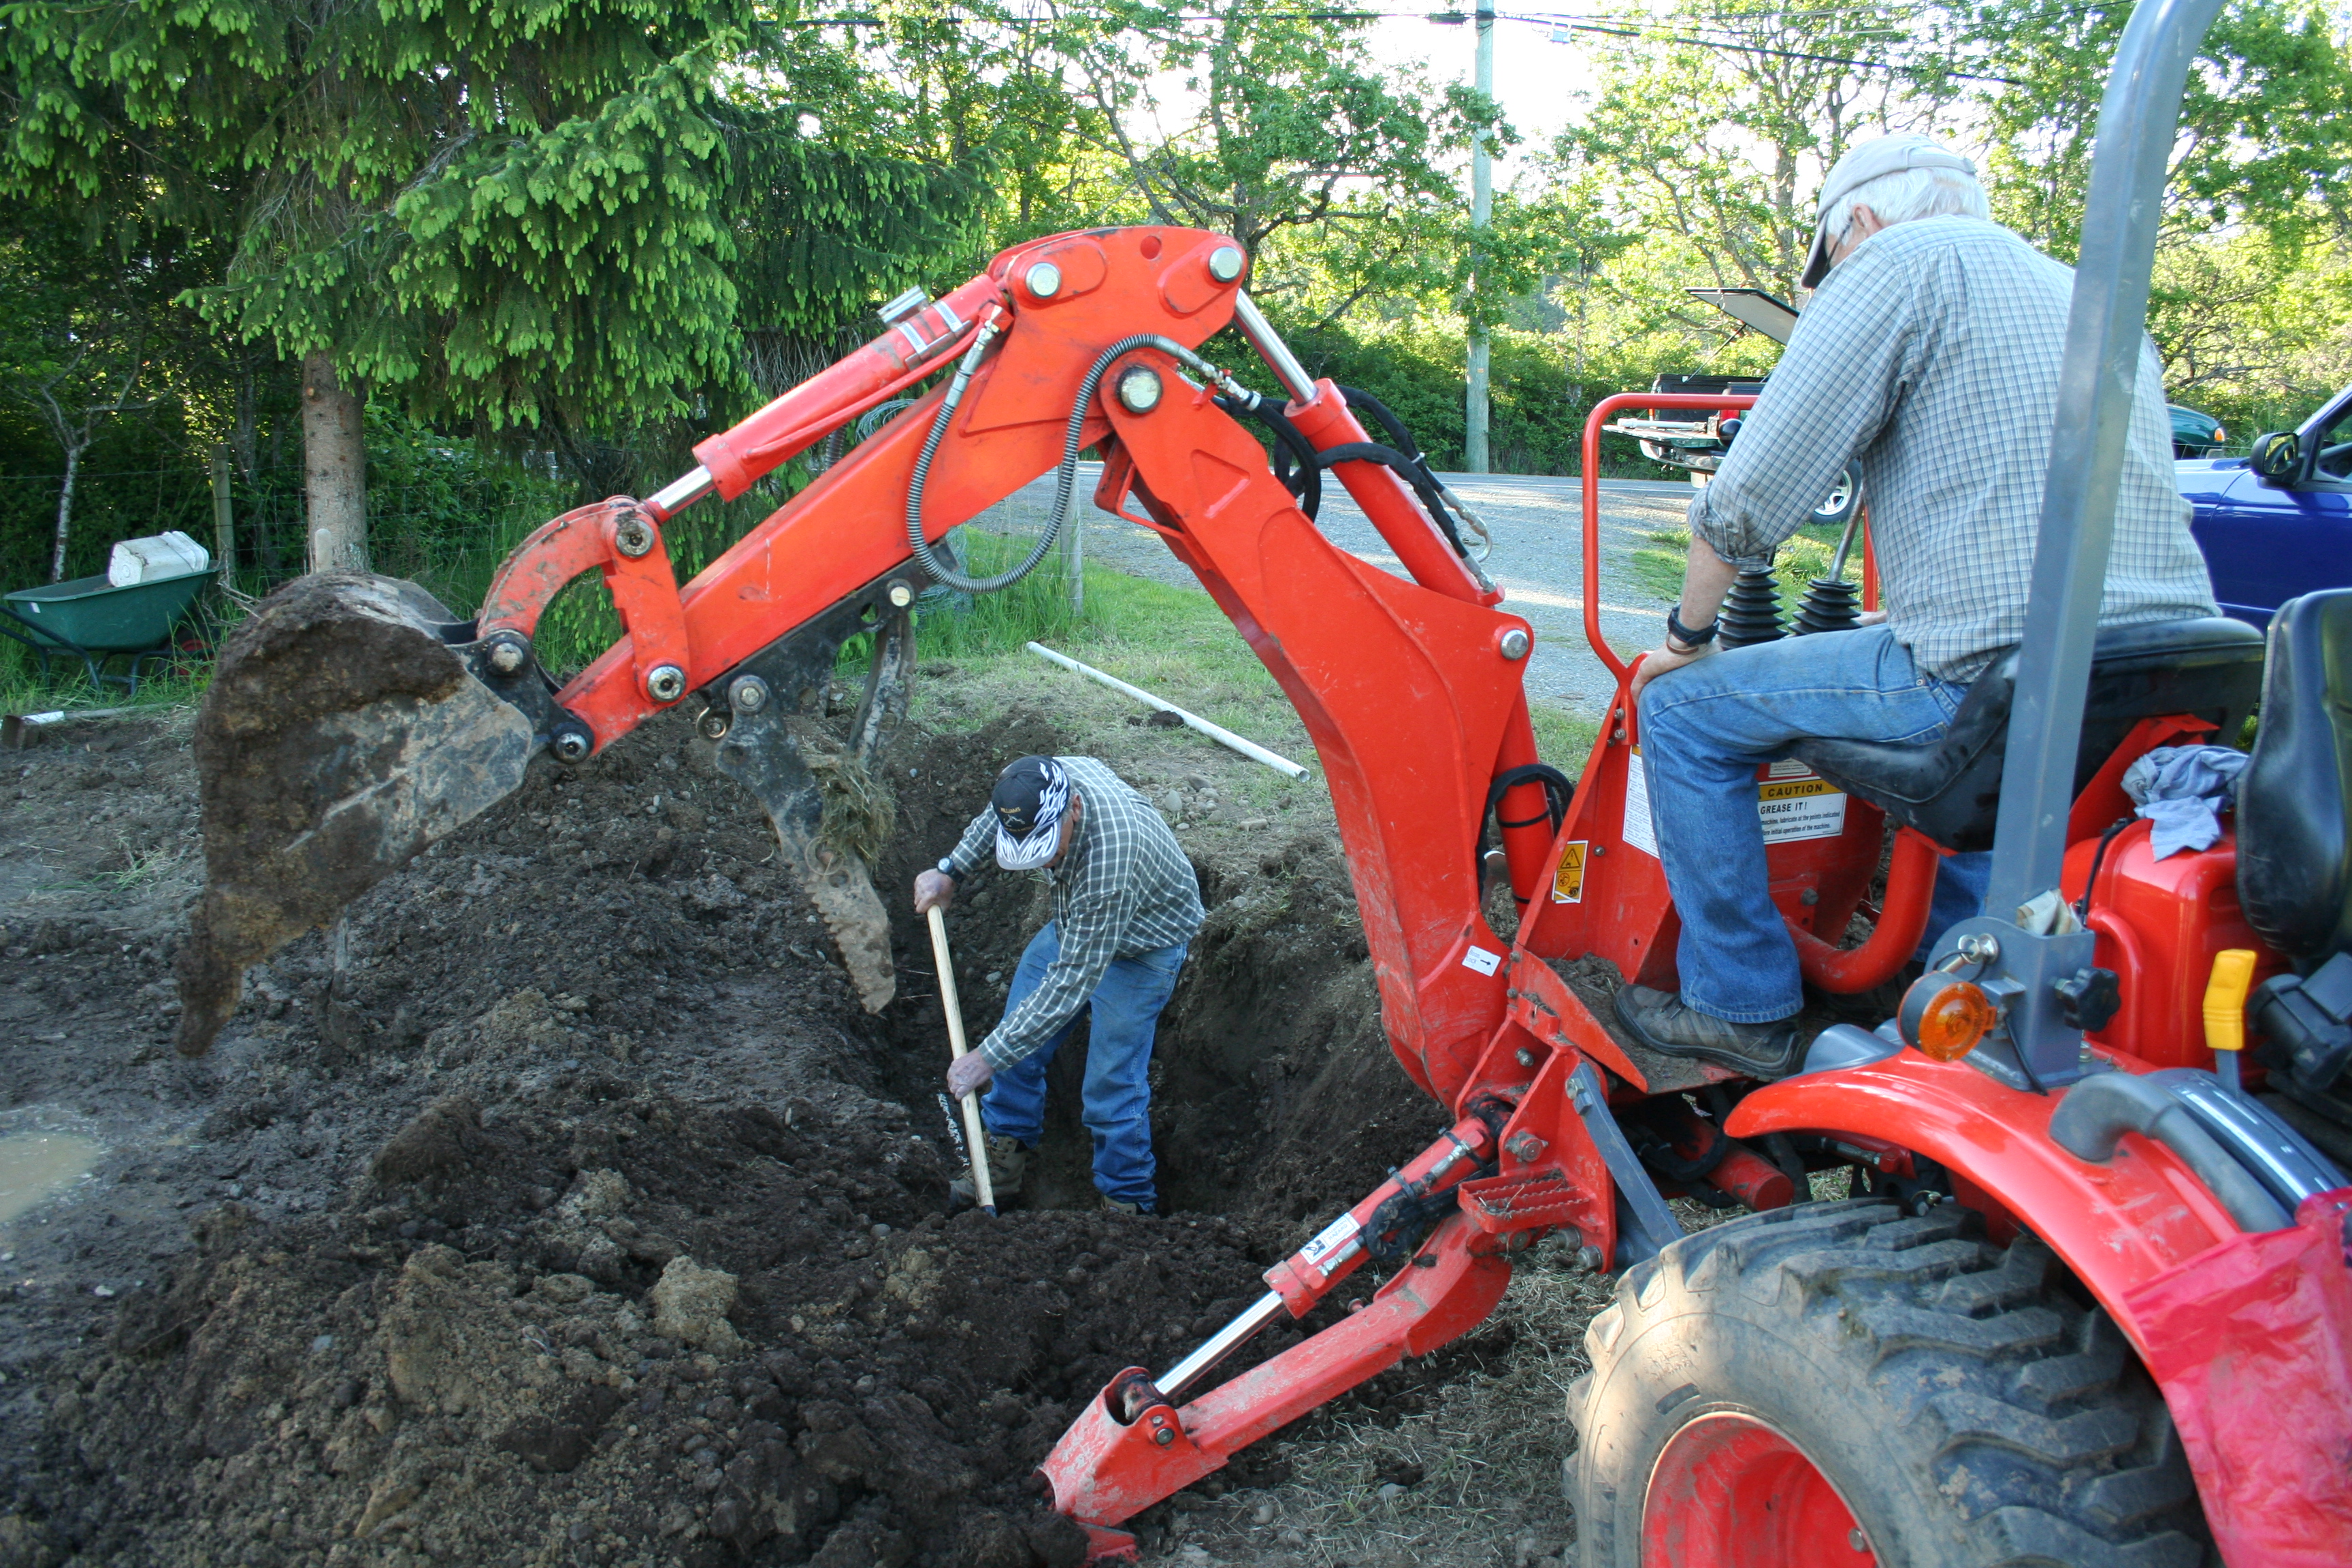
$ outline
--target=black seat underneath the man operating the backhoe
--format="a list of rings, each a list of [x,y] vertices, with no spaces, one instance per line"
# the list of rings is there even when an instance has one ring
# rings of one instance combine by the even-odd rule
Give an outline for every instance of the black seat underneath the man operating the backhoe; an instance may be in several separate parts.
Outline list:
[[[2352,628],[2352,609],[2345,623]],[[2352,649],[2352,639],[2343,646]],[[1882,809],[1896,827],[1917,827],[1945,849],[1992,849],[2016,686],[2018,651],[2011,649],[1976,677],[1940,741],[1893,745],[1823,738],[1799,741],[1792,750],[1839,790]],[[2140,719],[2185,712],[2213,719],[2225,741],[2237,736],[2260,686],[2263,635],[2244,621],[2209,616],[2103,630],[2091,651],[2074,792],[2082,792]],[[2338,809],[2338,844],[2343,835]]]

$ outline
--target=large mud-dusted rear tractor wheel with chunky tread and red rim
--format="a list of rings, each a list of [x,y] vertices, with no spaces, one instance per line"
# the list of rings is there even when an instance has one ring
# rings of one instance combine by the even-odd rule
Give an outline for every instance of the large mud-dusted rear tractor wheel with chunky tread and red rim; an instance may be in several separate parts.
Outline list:
[[[1625,1272],[1569,1394],[1585,1568],[2199,1568],[2164,1399],[2032,1237],[1884,1199]]]

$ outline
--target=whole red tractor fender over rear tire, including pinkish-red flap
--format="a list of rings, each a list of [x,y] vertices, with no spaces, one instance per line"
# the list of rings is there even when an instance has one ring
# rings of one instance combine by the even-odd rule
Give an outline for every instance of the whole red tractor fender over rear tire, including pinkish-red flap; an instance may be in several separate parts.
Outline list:
[[[2352,1446],[2352,1190],[2305,1199],[2284,1229],[2241,1232],[2178,1154],[2129,1128],[2138,1117],[2098,1117],[2098,1138],[2070,1128],[2089,1152],[2112,1147],[2091,1161],[2051,1138],[2056,1110],[2058,1095],[1900,1051],[1759,1088],[1724,1131],[1860,1133],[1943,1164],[1955,1187],[1980,1190],[1987,1218],[2042,1237],[2131,1338],[2164,1389],[2223,1561],[2352,1561],[2340,1469]]]

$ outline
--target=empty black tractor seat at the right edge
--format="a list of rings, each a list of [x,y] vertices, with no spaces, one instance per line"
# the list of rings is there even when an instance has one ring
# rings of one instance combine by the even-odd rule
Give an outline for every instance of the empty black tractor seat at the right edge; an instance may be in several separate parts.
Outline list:
[[[2352,950],[2352,588],[2270,618],[2263,726],[2237,785],[2237,896],[2293,959]]]

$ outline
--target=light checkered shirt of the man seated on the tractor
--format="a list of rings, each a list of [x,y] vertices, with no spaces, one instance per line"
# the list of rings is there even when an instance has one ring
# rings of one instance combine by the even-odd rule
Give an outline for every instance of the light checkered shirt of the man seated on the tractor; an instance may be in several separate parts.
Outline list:
[[[1851,463],[1896,639],[1922,675],[1973,679],[2025,635],[2072,289],[2070,268],[1983,219],[1870,235],[1797,317],[1691,501],[1691,534],[1726,562],[1769,564]],[[2143,339],[2098,623],[2213,614]]]

